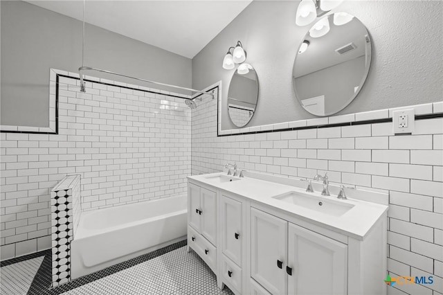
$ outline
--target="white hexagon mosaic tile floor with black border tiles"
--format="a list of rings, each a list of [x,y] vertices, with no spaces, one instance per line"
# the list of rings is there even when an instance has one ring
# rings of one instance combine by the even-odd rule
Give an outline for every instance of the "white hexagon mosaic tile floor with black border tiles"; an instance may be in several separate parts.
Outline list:
[[[217,287],[213,271],[186,250],[186,240],[53,289],[50,251],[26,258],[1,262],[1,294],[233,294],[228,287]]]

